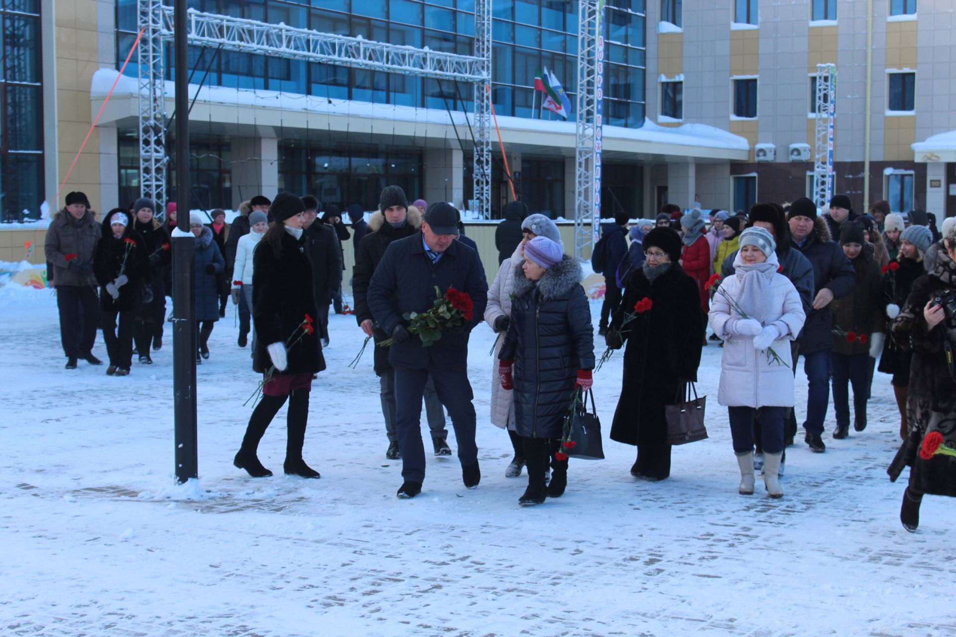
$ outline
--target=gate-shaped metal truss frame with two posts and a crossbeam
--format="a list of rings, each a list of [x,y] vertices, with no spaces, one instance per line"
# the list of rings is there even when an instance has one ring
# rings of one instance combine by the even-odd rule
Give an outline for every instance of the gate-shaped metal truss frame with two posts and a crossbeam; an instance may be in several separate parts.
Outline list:
[[[163,147],[163,40],[173,38],[173,9],[162,0],[139,0],[140,168],[142,193],[165,201]],[[491,205],[491,0],[475,1],[475,54],[460,55],[374,42],[360,37],[295,29],[255,20],[189,10],[189,44],[401,73],[475,85],[475,205],[490,217]],[[479,170],[481,167],[481,170]]]

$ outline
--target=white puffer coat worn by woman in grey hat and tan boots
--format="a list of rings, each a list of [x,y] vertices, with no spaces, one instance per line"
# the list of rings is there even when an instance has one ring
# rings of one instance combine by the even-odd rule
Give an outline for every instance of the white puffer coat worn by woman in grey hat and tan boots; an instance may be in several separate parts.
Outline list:
[[[779,265],[776,254],[771,254],[767,263]],[[800,294],[790,279],[774,267],[770,274],[771,310],[763,325],[775,326],[780,331],[771,348],[783,361],[781,364],[772,359],[770,350],[756,350],[753,336],[733,334],[727,329],[729,319],[743,318],[728,301],[728,297],[736,301],[740,295],[745,274],[740,266],[738,254],[734,262],[736,272],[721,283],[708,316],[714,333],[724,339],[717,402],[725,407],[793,407],[790,342],[803,329],[807,318]]]

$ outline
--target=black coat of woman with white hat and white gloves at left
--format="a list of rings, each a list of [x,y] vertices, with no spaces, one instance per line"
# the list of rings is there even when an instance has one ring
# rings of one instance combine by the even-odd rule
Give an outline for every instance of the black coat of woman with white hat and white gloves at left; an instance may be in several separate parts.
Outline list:
[[[110,312],[141,308],[142,285],[148,264],[146,246],[140,233],[133,229],[133,217],[128,212],[123,214],[129,223],[126,223],[122,237],[117,239],[113,236],[113,229],[110,227],[112,215],[107,215],[101,224],[102,236],[93,252],[93,272],[100,286],[99,307]],[[133,243],[127,244],[127,240]],[[120,276],[120,270],[128,281],[120,287],[120,297],[114,300],[106,291],[106,284],[116,280]]]

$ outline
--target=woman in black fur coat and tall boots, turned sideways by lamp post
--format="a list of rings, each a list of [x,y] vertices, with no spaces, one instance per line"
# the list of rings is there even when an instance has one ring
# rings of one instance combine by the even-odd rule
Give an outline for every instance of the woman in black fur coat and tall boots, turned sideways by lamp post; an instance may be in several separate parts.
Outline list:
[[[286,424],[286,474],[318,478],[302,459],[309,419],[313,374],[325,369],[319,336],[313,329],[317,314],[312,264],[302,235],[305,205],[292,193],[279,193],[269,208],[275,220],[252,257],[252,320],[255,352],[252,369],[264,373],[262,400],[246,428],[233,464],[252,478],[272,472],[256,456],[259,440],[279,409],[289,400]]]

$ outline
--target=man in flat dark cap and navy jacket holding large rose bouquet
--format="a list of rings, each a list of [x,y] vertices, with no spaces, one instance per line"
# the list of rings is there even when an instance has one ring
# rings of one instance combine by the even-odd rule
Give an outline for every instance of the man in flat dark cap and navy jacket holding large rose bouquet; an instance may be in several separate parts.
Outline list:
[[[422,232],[388,246],[368,287],[368,307],[381,329],[394,339],[388,361],[395,368],[396,429],[402,451],[404,483],[399,498],[414,498],[422,491],[422,395],[429,373],[451,415],[462,480],[469,489],[481,480],[467,356],[468,333],[482,321],[488,286],[475,251],[455,241],[455,213],[444,202],[429,206]],[[435,302],[435,289],[445,294],[449,287],[471,297],[472,319],[461,328],[445,330],[438,342],[424,348],[421,339],[406,328],[405,316],[427,311]]]

